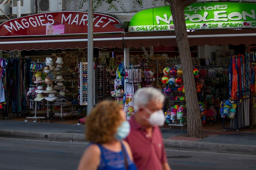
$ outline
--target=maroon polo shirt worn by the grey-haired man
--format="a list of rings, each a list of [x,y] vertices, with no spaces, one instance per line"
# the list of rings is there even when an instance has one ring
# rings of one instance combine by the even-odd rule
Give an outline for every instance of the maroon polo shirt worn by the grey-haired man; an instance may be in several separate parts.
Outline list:
[[[131,132],[125,139],[131,147],[138,170],[161,170],[167,162],[163,137],[159,127],[153,127],[152,137],[139,125],[134,116],[129,121]]]

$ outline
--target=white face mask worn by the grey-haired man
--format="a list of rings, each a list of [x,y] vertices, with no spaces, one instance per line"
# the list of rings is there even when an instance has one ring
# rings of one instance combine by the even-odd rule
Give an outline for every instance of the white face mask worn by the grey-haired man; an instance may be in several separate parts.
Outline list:
[[[149,123],[152,126],[163,126],[164,122],[165,122],[165,116],[163,113],[163,110],[158,110],[154,113],[150,112],[149,109],[145,108],[145,110],[150,114],[149,118],[147,118],[146,116],[144,116],[144,118],[146,120],[149,121]]]

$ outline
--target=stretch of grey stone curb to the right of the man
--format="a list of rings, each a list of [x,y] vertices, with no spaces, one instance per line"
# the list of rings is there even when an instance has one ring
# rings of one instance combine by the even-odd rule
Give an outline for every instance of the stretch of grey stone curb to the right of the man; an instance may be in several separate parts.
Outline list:
[[[167,140],[163,141],[165,149],[205,151],[219,153],[235,153],[235,154],[256,154],[256,146],[251,145],[232,145],[210,142],[191,142],[184,140]]]

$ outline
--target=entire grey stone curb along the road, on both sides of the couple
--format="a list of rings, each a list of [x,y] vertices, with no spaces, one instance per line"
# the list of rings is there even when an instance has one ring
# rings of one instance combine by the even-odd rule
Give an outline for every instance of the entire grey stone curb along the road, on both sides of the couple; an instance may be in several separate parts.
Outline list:
[[[54,140],[61,142],[88,142],[84,134],[60,133],[60,132],[31,132],[17,130],[0,130],[0,137],[11,137],[20,139]],[[191,142],[185,140],[163,140],[165,149],[221,152],[235,154],[256,154],[256,146],[229,145],[210,142]]]

